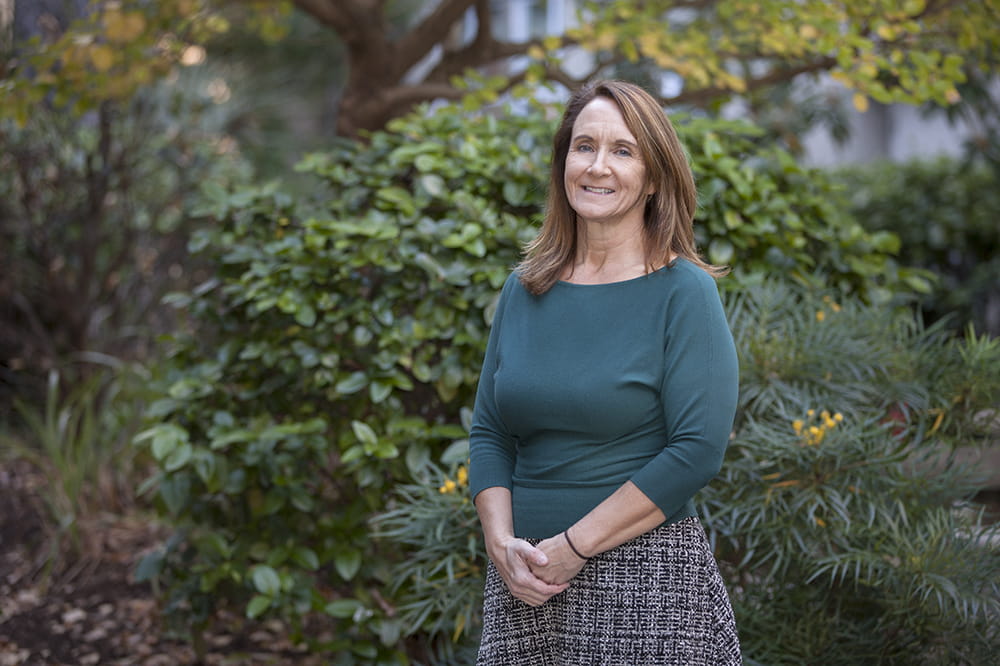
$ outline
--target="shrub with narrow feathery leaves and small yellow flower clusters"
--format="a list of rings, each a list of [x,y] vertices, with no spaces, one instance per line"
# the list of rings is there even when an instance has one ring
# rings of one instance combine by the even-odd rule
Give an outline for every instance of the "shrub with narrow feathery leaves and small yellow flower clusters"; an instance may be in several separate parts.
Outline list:
[[[741,407],[698,503],[748,663],[988,662],[1000,530],[951,454],[996,436],[1000,343],[774,283],[727,309]],[[486,555],[461,461],[448,452],[377,521],[416,552],[394,570],[399,611],[439,663],[463,663],[480,623]]]

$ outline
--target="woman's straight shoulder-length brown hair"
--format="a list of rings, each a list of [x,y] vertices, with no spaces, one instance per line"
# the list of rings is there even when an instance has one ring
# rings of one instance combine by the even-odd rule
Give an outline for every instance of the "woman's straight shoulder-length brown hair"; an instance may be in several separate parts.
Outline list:
[[[554,285],[576,255],[576,212],[566,196],[563,176],[566,155],[577,116],[597,97],[618,105],[625,124],[636,138],[646,167],[646,177],[655,192],[646,202],[643,243],[647,270],[684,257],[713,277],[725,275],[725,267],[713,266],[698,256],[694,242],[694,212],[697,192],[673,125],[659,103],[639,86],[624,81],[596,81],[570,97],[562,123],[552,140],[552,168],[545,219],[538,236],[525,247],[525,258],[517,267],[518,277],[533,294]]]

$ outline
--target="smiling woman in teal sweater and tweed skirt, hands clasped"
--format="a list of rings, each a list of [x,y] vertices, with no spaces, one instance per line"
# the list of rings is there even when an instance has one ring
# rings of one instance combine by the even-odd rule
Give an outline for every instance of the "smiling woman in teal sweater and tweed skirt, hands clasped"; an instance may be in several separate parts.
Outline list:
[[[641,88],[577,92],[545,221],[497,306],[470,433],[490,558],[478,663],[740,663],[692,496],[737,362],[684,151]]]

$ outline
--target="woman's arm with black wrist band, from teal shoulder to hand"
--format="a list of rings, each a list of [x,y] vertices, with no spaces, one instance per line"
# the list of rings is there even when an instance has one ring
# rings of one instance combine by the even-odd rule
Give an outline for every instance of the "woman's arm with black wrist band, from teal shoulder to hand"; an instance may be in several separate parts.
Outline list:
[[[700,277],[700,276],[699,276]],[[693,280],[674,294],[660,395],[667,441],[630,481],[567,533],[585,556],[614,548],[662,524],[718,474],[736,413],[736,348],[714,281]],[[533,567],[551,582],[572,578],[584,560],[562,534],[538,545],[550,564]]]

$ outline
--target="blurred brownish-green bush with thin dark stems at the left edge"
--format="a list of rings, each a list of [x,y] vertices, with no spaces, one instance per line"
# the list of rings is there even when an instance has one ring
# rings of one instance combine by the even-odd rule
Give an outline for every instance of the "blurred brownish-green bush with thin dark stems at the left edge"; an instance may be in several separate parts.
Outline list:
[[[192,284],[198,183],[245,179],[205,114],[164,83],[83,114],[39,104],[23,127],[0,118],[0,416],[14,395],[44,400],[53,368],[73,386],[92,367],[81,352],[143,358],[169,328],[160,299]]]

